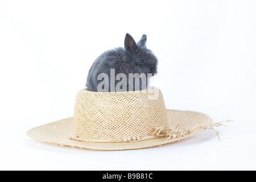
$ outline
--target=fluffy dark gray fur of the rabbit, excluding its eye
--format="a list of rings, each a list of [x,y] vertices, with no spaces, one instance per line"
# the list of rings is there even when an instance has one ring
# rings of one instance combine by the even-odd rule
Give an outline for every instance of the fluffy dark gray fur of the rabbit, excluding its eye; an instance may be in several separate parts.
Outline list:
[[[152,76],[157,72],[158,59],[150,49],[146,48],[147,36],[142,35],[141,40],[135,43],[130,34],[125,36],[125,48],[118,47],[102,53],[92,64],[89,70],[86,86],[88,90],[98,92],[98,84],[102,80],[97,80],[100,73],[106,73],[110,78],[110,69],[115,69],[115,76],[118,73],[124,73],[127,76],[127,91],[129,90],[128,78],[129,73],[151,73]],[[146,63],[141,63],[145,60]],[[109,79],[110,82],[110,79]],[[115,81],[117,85],[119,81]],[[133,87],[135,90],[135,86]],[[139,89],[145,89],[139,86]],[[113,92],[113,89],[106,89],[106,92]]]

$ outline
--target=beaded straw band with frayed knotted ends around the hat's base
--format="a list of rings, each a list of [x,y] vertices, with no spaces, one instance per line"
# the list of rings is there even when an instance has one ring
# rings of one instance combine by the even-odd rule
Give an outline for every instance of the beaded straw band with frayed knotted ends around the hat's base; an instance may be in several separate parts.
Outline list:
[[[191,134],[194,131],[203,131],[205,129],[208,130],[214,130],[214,133],[217,135],[218,139],[220,139],[220,136],[218,135],[218,131],[214,129],[214,127],[219,127],[219,126],[225,126],[222,124],[222,122],[230,122],[232,120],[227,120],[227,121],[221,121],[221,122],[216,122],[216,123],[210,123],[209,125],[204,125],[200,127],[195,127],[193,129],[187,130],[187,129],[182,129],[178,126],[176,126],[175,129],[171,129],[170,127],[159,127],[155,129],[155,131],[146,137],[139,137],[139,136],[132,136],[132,137],[123,137],[123,139],[119,140],[99,140],[99,139],[85,139],[85,138],[79,138],[75,133],[69,136],[69,139],[76,140],[79,142],[95,142],[95,143],[109,143],[109,142],[138,142],[141,140],[147,140],[147,139],[153,139],[153,138],[160,138],[160,137],[166,137],[168,139],[177,139],[185,137],[186,135]],[[234,122],[234,121],[232,121]]]

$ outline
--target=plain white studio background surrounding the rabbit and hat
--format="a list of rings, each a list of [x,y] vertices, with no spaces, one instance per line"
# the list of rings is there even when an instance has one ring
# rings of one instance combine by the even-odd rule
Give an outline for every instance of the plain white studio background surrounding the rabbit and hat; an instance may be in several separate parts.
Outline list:
[[[1,1],[0,169],[256,169],[255,1]],[[52,146],[31,127],[71,117],[90,65],[129,32],[159,59],[168,109],[195,110],[220,131],[160,147]]]

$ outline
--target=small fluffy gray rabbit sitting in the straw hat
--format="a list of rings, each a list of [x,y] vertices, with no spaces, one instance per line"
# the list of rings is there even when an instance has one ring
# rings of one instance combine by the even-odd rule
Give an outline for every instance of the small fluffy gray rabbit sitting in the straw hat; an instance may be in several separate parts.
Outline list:
[[[125,36],[125,48],[102,53],[89,70],[86,86],[93,92],[122,92],[147,89],[148,79],[157,72],[158,59],[146,48],[147,36],[135,43]],[[104,78],[104,79],[103,79]]]

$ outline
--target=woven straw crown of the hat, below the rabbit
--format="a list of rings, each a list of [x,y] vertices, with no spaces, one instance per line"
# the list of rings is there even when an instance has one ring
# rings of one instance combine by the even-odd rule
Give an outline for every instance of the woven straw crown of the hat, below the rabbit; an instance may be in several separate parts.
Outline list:
[[[168,127],[167,110],[158,88],[131,92],[90,92],[76,96],[77,138],[93,142],[137,140]]]

